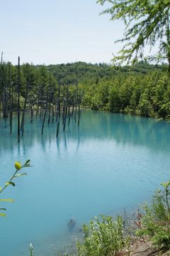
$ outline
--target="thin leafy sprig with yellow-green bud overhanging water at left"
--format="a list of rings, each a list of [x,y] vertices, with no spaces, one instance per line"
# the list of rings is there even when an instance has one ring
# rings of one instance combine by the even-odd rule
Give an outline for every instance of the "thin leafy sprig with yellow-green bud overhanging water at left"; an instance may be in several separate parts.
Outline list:
[[[26,161],[26,163],[25,164],[23,164],[23,165],[21,165],[21,163],[19,162],[19,161],[16,161],[15,162],[15,172],[13,173],[13,176],[11,176],[11,178],[9,179],[9,181],[7,181],[6,183],[5,183],[5,185],[4,185],[4,187],[3,188],[1,188],[0,187],[0,193],[2,193],[2,191],[4,191],[6,188],[7,188],[7,186],[9,186],[9,185],[11,185],[11,186],[16,186],[16,184],[13,182],[13,179],[14,178],[18,178],[18,177],[20,177],[20,176],[25,176],[25,175],[27,175],[26,173],[21,173],[21,174],[19,174],[18,172],[21,170],[21,169],[23,169],[23,168],[25,168],[25,167],[30,167],[30,159],[28,159],[27,161]],[[13,199],[0,199],[0,201],[7,201],[7,202],[11,202],[11,203],[13,203]],[[0,210],[6,210],[6,208],[0,208]],[[0,216],[6,216],[6,214],[5,213],[0,213]]]

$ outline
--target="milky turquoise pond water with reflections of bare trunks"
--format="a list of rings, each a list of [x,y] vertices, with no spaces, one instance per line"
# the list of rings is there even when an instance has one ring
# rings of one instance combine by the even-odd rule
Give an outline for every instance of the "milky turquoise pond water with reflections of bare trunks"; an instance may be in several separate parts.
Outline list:
[[[16,180],[1,198],[1,255],[55,255],[69,241],[67,223],[81,223],[100,213],[133,210],[170,174],[170,124],[156,119],[86,110],[80,126],[72,122],[56,139],[56,124],[26,119],[25,136],[17,143],[0,119],[0,186],[13,173],[15,160],[31,159],[28,176]],[[14,124],[15,126],[15,124]]]

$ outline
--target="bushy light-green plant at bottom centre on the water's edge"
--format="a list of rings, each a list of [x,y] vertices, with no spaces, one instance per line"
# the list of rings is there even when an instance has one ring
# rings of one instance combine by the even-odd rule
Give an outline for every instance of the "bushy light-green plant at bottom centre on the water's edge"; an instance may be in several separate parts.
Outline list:
[[[116,255],[122,250],[128,250],[130,237],[123,233],[123,219],[118,216],[113,221],[111,217],[96,218],[91,224],[84,225],[84,242],[77,242],[78,256]]]

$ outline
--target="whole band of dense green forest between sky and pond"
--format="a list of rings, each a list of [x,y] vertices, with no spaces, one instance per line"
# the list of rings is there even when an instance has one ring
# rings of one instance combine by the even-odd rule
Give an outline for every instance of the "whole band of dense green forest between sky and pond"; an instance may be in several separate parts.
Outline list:
[[[166,64],[149,65],[146,61],[121,68],[106,63],[26,63],[19,70],[20,107],[22,110],[26,100],[29,111],[45,110],[50,79],[50,104],[60,101],[62,107],[68,96],[70,106],[169,119],[170,82],[166,70]],[[18,65],[2,62],[0,75],[1,110],[6,117],[11,104],[13,112],[17,107]]]

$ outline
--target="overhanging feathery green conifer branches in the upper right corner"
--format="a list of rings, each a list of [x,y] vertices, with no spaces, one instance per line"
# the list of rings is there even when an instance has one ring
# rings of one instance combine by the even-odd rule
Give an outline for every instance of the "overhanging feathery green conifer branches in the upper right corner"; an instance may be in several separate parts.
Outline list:
[[[125,22],[123,48],[113,58],[115,63],[130,60],[134,63],[143,57],[143,48],[151,48],[159,43],[157,55],[150,56],[155,60],[168,60],[170,73],[170,0],[98,0],[99,4],[111,4],[102,14],[111,14],[111,21]],[[118,42],[117,41],[117,42]]]

